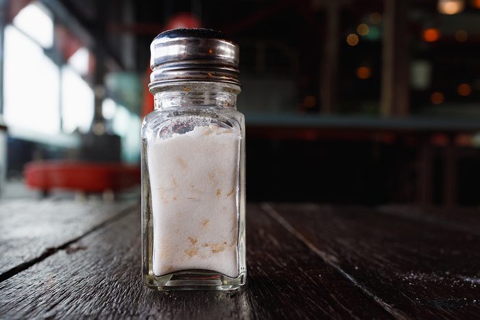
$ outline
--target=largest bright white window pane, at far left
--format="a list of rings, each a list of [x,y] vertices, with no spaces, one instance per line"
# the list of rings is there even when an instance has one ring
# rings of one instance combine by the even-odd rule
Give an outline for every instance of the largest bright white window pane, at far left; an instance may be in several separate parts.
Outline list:
[[[5,28],[5,122],[45,134],[60,132],[60,71],[34,40]]]

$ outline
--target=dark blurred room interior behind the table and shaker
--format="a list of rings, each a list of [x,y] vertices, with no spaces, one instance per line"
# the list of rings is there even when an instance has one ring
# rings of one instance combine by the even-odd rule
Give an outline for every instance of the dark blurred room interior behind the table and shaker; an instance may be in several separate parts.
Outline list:
[[[249,201],[479,204],[479,0],[0,0],[0,199],[138,193],[176,27],[241,47]]]

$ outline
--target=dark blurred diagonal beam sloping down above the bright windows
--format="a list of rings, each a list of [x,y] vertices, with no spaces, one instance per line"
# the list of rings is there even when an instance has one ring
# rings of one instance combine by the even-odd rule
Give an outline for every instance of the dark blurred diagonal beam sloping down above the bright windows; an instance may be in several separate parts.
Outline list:
[[[87,21],[71,3],[62,0],[40,0],[56,15],[59,21],[67,25],[68,29],[90,49],[102,51],[104,63],[112,70],[123,70],[123,62],[108,45],[106,34],[97,32],[95,25]]]

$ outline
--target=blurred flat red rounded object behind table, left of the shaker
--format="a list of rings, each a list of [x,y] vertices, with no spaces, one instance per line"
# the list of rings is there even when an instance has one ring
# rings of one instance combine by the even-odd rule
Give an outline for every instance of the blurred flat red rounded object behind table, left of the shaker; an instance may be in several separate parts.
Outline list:
[[[140,183],[140,167],[119,162],[74,161],[29,162],[25,166],[27,186],[43,191],[67,189],[86,193],[121,190]]]

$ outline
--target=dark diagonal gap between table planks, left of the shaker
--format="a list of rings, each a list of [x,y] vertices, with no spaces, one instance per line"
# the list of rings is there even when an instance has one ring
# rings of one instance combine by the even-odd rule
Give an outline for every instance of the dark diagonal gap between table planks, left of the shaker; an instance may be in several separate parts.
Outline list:
[[[66,243],[63,243],[62,245],[56,246],[56,247],[49,247],[43,251],[43,254],[40,254],[40,256],[30,259],[28,261],[25,261],[12,269],[5,271],[0,274],[0,282],[3,282],[5,280],[8,280],[9,278],[12,278],[14,275],[21,273],[22,271],[27,270],[29,267],[32,267],[34,264],[37,264],[40,261],[45,260],[49,256],[56,254],[56,252],[60,250],[67,249],[70,245],[73,243],[79,241],[80,239],[84,238],[85,236],[88,236],[88,234],[91,234],[92,232],[95,232],[99,230],[101,227],[104,227],[105,225],[108,225],[109,223],[119,219],[120,217],[128,214],[130,211],[134,210],[134,208],[137,208],[139,206],[138,203],[132,204],[128,206],[127,208],[124,208],[120,210],[118,214],[115,214],[113,217],[110,217],[109,219],[106,219],[104,222],[99,223],[98,225],[95,225],[95,227],[92,227],[90,230],[87,230],[84,234],[81,236],[77,236],[76,238],[71,239],[70,241],[67,241]]]

